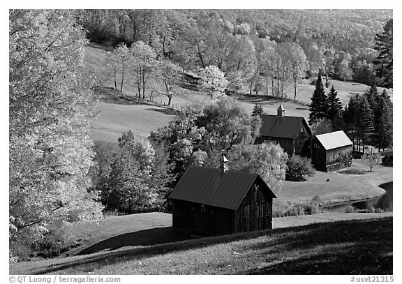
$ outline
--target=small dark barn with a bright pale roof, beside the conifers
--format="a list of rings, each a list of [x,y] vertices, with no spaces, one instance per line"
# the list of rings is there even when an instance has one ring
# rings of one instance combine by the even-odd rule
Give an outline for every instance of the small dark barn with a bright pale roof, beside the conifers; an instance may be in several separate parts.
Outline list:
[[[352,165],[352,141],[341,130],[316,135],[311,140],[311,162],[328,172]]]

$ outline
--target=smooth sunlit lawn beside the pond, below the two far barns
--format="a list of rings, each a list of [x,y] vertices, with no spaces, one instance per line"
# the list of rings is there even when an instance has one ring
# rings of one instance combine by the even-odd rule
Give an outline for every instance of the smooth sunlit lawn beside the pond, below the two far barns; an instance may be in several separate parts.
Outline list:
[[[278,199],[299,202],[319,195],[323,202],[336,203],[362,200],[385,193],[378,186],[392,181],[393,167],[380,165],[369,172],[369,167],[362,160],[353,160],[352,164],[352,167],[338,172],[317,171],[313,177],[303,182],[283,181]]]

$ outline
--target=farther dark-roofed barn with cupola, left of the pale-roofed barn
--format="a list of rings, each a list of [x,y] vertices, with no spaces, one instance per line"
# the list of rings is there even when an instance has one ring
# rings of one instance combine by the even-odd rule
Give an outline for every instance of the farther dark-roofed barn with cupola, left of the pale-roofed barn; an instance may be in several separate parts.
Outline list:
[[[259,142],[276,142],[288,155],[308,155],[308,138],[311,130],[304,117],[285,116],[285,109],[279,105],[274,114],[261,114]]]

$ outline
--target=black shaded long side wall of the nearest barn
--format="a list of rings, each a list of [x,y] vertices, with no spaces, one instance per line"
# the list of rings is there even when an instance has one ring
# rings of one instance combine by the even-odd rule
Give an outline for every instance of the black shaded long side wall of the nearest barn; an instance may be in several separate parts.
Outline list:
[[[173,200],[173,227],[204,236],[234,233],[234,211]]]

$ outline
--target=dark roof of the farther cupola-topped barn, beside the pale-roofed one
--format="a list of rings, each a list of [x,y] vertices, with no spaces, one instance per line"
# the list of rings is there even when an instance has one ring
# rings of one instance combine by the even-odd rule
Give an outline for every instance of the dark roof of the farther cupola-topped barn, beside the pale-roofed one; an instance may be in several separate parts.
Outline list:
[[[261,120],[261,136],[295,138],[302,123],[305,124],[308,133],[311,135],[311,130],[308,128],[304,117],[278,117],[274,114],[261,114]]]

